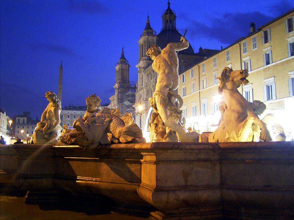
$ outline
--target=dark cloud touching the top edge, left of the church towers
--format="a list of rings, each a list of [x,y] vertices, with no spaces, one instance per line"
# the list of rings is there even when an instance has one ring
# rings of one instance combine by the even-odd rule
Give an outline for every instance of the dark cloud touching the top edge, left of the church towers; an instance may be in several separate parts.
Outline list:
[[[105,4],[97,0],[68,0],[66,9],[87,14],[103,14],[110,11]]]

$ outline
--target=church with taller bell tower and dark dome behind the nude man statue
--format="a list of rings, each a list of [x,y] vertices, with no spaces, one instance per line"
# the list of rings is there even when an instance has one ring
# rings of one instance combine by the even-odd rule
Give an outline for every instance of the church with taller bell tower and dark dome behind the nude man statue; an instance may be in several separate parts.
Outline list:
[[[180,42],[181,33],[176,28],[176,14],[171,10],[170,3],[168,2],[168,8],[162,15],[162,29],[161,32],[156,35],[156,31],[151,28],[149,17],[147,17],[146,26],[142,35],[138,41],[139,43],[139,60],[138,65],[138,85],[136,91],[136,103],[133,107],[136,108],[136,123],[141,128],[144,128],[145,121],[150,108],[148,102],[149,97],[152,97],[155,91],[156,79],[158,74],[152,68],[152,60],[146,55],[147,50],[151,45],[158,45],[161,49],[165,48],[168,43]],[[189,39],[187,39],[189,41]],[[199,53],[194,53],[192,45],[185,50],[178,52],[179,69],[178,72],[184,72],[191,66],[195,65],[200,60],[205,59],[217,53],[219,50],[199,49]],[[139,115],[139,105],[142,106],[141,115]],[[141,120],[141,121],[140,121]]]

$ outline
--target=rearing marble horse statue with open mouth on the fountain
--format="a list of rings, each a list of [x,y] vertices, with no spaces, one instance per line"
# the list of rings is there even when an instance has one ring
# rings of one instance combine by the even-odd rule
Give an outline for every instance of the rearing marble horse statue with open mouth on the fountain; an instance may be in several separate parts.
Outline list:
[[[229,67],[225,67],[218,77],[218,92],[222,96],[219,106],[222,115],[216,131],[205,134],[208,136],[208,142],[272,140],[266,124],[258,118],[252,104],[237,89],[241,84],[248,84],[247,77],[246,70],[233,71]],[[257,108],[255,111],[260,110]],[[201,134],[200,141],[206,141],[205,135]]]

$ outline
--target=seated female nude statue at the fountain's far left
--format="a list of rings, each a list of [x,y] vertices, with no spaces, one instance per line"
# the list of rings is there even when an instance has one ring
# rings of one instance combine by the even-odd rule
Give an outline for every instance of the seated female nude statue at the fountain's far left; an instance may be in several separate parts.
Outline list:
[[[46,92],[45,97],[49,101],[44,110],[41,121],[32,135],[35,144],[50,143],[55,144],[61,135],[62,127],[60,126],[61,103],[54,92]]]

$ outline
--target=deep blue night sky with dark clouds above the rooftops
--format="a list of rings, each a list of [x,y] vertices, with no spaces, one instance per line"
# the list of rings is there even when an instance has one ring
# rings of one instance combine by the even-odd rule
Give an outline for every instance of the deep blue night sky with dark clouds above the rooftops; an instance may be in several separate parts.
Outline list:
[[[230,3],[228,3],[230,2]],[[147,15],[157,33],[167,0],[1,0],[0,107],[10,117],[41,117],[47,91],[57,94],[63,65],[62,106],[85,105],[96,93],[114,94],[115,66],[124,47],[130,80],[137,80],[138,43]],[[171,0],[180,33],[198,52],[220,49],[294,8],[291,1]]]

